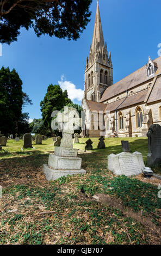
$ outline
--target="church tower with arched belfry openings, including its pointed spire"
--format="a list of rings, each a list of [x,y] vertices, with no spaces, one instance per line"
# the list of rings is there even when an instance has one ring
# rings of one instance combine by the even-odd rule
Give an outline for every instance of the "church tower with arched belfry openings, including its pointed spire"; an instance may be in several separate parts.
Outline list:
[[[104,90],[113,84],[113,64],[111,54],[107,51],[107,43],[104,44],[100,9],[97,0],[92,45],[89,58],[86,57],[84,98],[99,102]]]

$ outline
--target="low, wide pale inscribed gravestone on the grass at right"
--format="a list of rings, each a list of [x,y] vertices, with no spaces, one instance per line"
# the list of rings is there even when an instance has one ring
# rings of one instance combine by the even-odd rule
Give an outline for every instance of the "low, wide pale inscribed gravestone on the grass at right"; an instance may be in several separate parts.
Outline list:
[[[111,154],[108,156],[108,169],[116,175],[139,175],[144,170],[143,156],[139,152]]]

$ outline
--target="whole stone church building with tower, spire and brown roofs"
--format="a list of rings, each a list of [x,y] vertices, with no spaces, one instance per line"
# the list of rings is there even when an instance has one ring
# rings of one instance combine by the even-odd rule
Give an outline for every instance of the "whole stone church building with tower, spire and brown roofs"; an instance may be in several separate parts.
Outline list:
[[[113,84],[113,64],[104,43],[97,2],[89,58],[86,58],[84,137],[146,136],[152,124],[161,125],[161,56]],[[102,133],[103,132],[103,133]]]

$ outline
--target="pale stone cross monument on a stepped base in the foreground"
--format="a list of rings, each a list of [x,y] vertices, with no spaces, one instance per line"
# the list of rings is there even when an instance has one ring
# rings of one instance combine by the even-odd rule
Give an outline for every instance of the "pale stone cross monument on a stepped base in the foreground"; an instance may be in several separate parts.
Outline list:
[[[76,123],[79,122],[80,118],[75,108],[64,107],[64,112],[59,112],[57,123],[64,123],[63,138],[60,147],[55,147],[54,154],[49,155],[48,164],[44,164],[42,168],[47,180],[86,173],[84,169],[81,169],[82,158],[77,157],[78,149],[73,149],[73,124],[77,127]]]

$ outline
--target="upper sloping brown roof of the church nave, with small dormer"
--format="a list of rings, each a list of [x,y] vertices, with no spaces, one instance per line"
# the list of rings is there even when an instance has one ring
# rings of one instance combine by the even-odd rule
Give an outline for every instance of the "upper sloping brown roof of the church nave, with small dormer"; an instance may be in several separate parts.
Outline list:
[[[104,91],[100,102],[106,101],[118,94],[126,92],[126,90],[130,90],[133,87],[138,86],[139,84],[150,80],[154,76],[161,74],[161,56],[153,60],[153,62],[155,62],[156,66],[158,66],[158,69],[153,76],[147,77],[147,70],[146,70],[147,65],[145,65],[142,68],[138,69],[137,71],[134,71],[131,75],[126,76],[119,82],[116,82],[112,86],[108,87]]]

